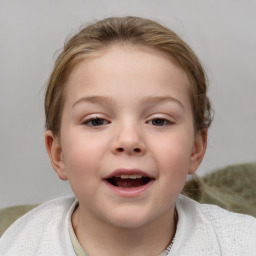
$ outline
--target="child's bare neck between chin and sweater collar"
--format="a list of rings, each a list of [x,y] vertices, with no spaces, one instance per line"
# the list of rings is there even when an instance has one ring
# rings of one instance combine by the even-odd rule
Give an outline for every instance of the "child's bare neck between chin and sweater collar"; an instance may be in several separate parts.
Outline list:
[[[171,243],[176,223],[174,208],[144,226],[122,228],[96,219],[79,206],[72,215],[75,234],[90,255],[158,255]],[[100,246],[99,246],[100,245]]]

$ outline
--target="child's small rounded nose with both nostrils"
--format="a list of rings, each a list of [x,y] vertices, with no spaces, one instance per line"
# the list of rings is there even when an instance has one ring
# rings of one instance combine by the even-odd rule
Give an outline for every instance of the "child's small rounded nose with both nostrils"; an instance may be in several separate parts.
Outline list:
[[[129,124],[117,128],[112,153],[143,155],[145,152],[144,134],[138,126]]]

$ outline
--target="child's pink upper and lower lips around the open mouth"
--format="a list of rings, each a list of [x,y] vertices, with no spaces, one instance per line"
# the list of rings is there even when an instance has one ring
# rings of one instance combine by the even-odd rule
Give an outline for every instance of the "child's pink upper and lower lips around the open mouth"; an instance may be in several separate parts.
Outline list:
[[[107,181],[108,178],[111,178],[114,176],[120,176],[123,174],[128,174],[128,175],[137,174],[137,175],[149,177],[149,178],[151,178],[151,180],[145,185],[142,185],[139,187],[129,187],[129,188],[116,187]],[[152,175],[150,175],[144,171],[141,171],[139,169],[125,169],[125,168],[117,169],[117,170],[113,171],[111,174],[109,174],[103,178],[104,184],[112,192],[114,192],[118,196],[127,197],[127,198],[141,196],[144,192],[146,192],[147,190],[150,189],[150,187],[153,185],[154,181],[155,181],[155,178],[152,177]]]

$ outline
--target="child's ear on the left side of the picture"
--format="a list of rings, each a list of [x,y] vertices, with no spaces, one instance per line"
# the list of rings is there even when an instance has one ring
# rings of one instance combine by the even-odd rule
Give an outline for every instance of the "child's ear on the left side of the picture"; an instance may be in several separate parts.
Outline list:
[[[65,171],[65,164],[63,162],[62,148],[59,139],[56,138],[50,130],[45,132],[44,138],[46,150],[53,169],[56,171],[60,179],[67,180],[68,178]]]

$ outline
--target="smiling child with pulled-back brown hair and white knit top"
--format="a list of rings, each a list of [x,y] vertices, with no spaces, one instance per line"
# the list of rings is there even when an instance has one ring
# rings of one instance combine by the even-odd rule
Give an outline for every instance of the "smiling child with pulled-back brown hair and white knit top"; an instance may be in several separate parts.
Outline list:
[[[256,255],[256,220],[179,195],[207,144],[203,68],[151,20],[108,18],[73,36],[45,96],[51,164],[76,198],[47,202],[1,255]]]

